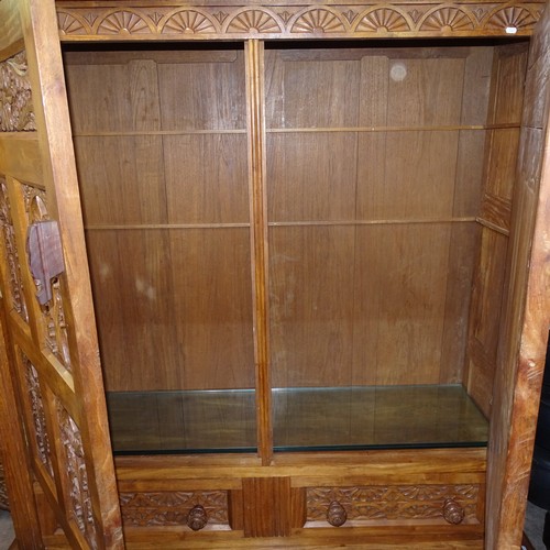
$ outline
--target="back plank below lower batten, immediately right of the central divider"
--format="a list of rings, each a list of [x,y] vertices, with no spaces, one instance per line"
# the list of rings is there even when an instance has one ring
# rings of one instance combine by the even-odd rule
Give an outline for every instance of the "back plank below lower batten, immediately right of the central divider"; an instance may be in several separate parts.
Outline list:
[[[349,227],[271,229],[274,387],[351,384],[353,241]]]

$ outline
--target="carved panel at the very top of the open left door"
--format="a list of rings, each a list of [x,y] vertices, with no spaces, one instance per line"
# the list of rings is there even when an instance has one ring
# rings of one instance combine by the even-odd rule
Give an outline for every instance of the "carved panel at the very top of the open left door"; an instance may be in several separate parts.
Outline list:
[[[25,52],[0,63],[0,132],[36,130]]]

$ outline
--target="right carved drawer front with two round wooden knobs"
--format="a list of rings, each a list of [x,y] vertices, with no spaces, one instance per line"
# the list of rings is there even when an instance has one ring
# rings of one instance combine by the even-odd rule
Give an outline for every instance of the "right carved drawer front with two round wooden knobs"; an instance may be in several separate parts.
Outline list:
[[[483,521],[480,485],[308,487],[306,527]]]

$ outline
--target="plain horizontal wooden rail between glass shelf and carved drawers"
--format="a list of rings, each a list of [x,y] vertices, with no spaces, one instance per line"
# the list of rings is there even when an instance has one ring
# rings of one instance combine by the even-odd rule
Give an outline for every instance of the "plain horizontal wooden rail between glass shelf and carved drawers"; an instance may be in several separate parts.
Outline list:
[[[239,477],[262,477],[276,473],[293,477],[295,486],[307,486],[307,479],[315,483],[330,483],[339,477],[370,480],[388,483],[389,480],[422,479],[427,475],[449,475],[459,483],[461,479],[481,480],[485,471],[486,449],[413,449],[334,452],[292,452],[274,455],[273,468],[264,468],[253,454],[188,454],[118,457],[117,476],[121,483],[194,483],[227,479],[230,488]],[[462,477],[461,477],[462,476]],[[302,481],[304,479],[304,481]],[[154,485],[157,487],[157,485]],[[178,485],[180,486],[180,485]],[[195,485],[194,485],[195,486]],[[220,485],[227,487],[226,483]]]

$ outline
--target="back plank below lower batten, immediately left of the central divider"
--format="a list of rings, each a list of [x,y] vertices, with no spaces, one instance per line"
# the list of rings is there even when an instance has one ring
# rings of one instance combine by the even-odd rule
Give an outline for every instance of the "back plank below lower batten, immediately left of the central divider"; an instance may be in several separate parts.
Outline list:
[[[170,254],[180,387],[254,387],[250,231],[170,231]]]

